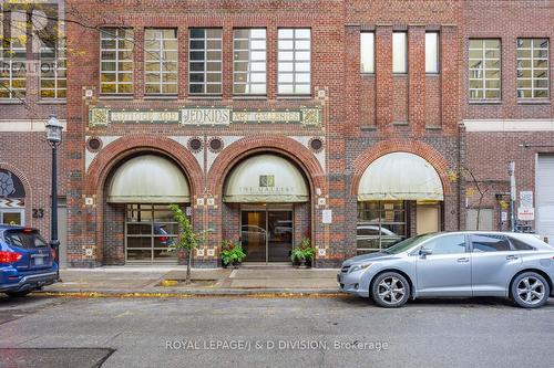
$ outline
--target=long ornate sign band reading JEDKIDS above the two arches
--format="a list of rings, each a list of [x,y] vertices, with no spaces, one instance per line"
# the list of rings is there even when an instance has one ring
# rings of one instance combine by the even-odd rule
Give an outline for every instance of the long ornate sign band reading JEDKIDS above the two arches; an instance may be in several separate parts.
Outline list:
[[[239,111],[230,107],[183,107],[176,111],[116,111],[110,107],[90,107],[89,126],[110,124],[179,124],[182,126],[213,126],[230,124],[321,124],[320,107],[295,111]]]

